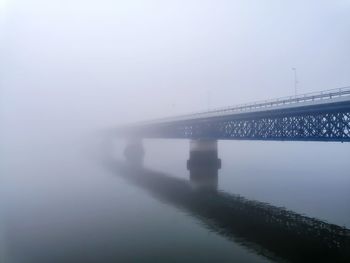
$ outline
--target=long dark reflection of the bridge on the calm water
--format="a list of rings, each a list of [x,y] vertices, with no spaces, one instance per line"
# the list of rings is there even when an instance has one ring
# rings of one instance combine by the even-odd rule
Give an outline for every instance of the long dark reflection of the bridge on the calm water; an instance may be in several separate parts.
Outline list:
[[[108,165],[159,200],[189,211],[207,228],[258,254],[288,262],[350,262],[348,229],[241,196],[197,191],[186,180],[130,163],[110,160]]]

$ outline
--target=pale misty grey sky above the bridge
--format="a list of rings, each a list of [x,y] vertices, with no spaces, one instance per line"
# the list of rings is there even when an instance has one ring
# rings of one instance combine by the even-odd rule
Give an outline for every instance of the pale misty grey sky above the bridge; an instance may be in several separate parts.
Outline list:
[[[0,1],[3,120],[97,127],[350,85],[350,1]],[[24,124],[23,124],[24,125]]]

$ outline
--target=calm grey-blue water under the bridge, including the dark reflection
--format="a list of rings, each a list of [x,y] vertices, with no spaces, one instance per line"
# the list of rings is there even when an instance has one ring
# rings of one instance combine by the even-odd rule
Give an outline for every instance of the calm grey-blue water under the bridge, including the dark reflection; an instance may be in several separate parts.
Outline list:
[[[188,141],[143,145],[133,167],[121,141],[7,140],[1,262],[297,262],[350,228],[349,144],[220,141],[217,192]]]

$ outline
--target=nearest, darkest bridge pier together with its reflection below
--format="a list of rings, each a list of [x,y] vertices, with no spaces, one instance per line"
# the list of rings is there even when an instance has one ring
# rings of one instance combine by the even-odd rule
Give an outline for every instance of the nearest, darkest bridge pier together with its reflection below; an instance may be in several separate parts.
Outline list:
[[[190,171],[190,181],[195,188],[216,191],[220,168],[221,160],[218,158],[217,140],[190,141],[190,158],[187,161],[187,169]]]

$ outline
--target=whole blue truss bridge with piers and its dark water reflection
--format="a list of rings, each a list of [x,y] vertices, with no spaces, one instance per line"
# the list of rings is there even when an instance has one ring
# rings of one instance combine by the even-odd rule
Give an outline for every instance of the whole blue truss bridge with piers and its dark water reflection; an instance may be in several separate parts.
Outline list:
[[[217,140],[350,142],[350,87],[140,122],[117,133],[131,138],[127,162],[107,158],[106,167],[210,231],[268,259],[349,262],[349,229],[218,191]],[[144,168],[142,138],[190,139],[190,180]]]

